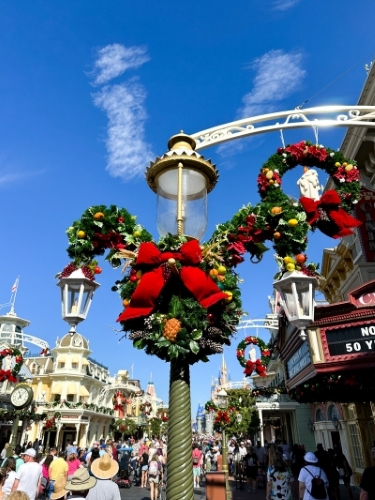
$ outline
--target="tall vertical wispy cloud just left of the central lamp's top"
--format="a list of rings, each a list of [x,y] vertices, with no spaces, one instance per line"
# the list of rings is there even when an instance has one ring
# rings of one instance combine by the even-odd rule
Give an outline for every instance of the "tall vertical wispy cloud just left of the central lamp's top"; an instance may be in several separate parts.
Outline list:
[[[107,170],[126,181],[143,175],[154,156],[145,142],[145,98],[144,87],[135,80],[108,85],[93,95],[94,104],[108,117]]]

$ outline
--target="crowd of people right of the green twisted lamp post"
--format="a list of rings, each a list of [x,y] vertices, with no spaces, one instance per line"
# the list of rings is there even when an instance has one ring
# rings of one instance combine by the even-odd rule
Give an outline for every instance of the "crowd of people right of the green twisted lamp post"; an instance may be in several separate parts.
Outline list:
[[[375,441],[372,450],[375,463]],[[214,439],[196,439],[192,447],[194,487],[199,488],[205,473],[218,469],[222,443]],[[317,445],[315,452],[306,452],[303,445],[259,440],[253,446],[247,440],[230,439],[227,446],[228,470],[231,476],[246,481],[248,493],[266,489],[266,500],[313,500],[314,478],[322,485],[322,500],[341,500],[340,480],[353,499],[350,485],[352,468],[340,446],[324,450]],[[375,467],[365,470],[360,484],[360,500],[375,500]]]

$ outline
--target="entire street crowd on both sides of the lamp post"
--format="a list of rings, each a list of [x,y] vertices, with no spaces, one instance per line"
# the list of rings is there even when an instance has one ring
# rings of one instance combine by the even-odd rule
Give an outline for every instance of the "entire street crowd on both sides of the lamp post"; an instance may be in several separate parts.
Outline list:
[[[5,447],[4,447],[5,448]],[[151,500],[167,479],[167,445],[163,440],[129,439],[126,442],[100,440],[90,448],[80,449],[67,443],[63,451],[52,447],[47,455],[35,447],[25,450],[17,445],[9,455],[2,453],[0,500],[37,500],[39,495],[51,500],[66,500],[70,494],[81,500],[120,500],[116,478],[138,481],[150,489]],[[375,442],[371,451],[375,463]],[[339,446],[306,452],[303,445],[289,447],[286,441],[230,439],[227,446],[228,470],[246,481],[247,491],[266,489],[266,500],[340,500],[340,479],[353,499],[350,478],[352,469]],[[195,439],[192,443],[194,488],[200,488],[203,476],[218,470],[222,463],[222,442]],[[375,500],[375,467],[365,470],[360,484],[360,500]],[[321,491],[317,493],[318,480]],[[105,492],[105,493],[104,493]]]

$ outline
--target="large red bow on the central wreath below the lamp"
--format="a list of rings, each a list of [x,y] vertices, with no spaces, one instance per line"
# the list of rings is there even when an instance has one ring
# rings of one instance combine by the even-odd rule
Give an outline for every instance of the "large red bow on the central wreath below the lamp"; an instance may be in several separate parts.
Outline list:
[[[202,251],[196,240],[184,243],[179,252],[161,252],[154,243],[142,243],[136,265],[142,268],[147,266],[149,270],[144,272],[131,296],[129,306],[120,314],[117,321],[128,321],[151,314],[165,285],[161,264],[168,262],[169,259],[181,262],[183,266],[180,270],[181,281],[202,307],[207,309],[227,298],[212,278],[197,267],[202,261]]]

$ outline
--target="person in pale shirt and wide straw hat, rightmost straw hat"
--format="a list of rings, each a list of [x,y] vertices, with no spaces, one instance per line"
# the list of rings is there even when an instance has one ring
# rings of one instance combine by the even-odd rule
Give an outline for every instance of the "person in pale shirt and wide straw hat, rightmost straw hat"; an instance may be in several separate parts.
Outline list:
[[[107,453],[94,460],[91,472],[97,481],[96,485],[89,491],[87,500],[121,500],[119,487],[112,481],[113,476],[118,473],[118,469],[118,462]]]

